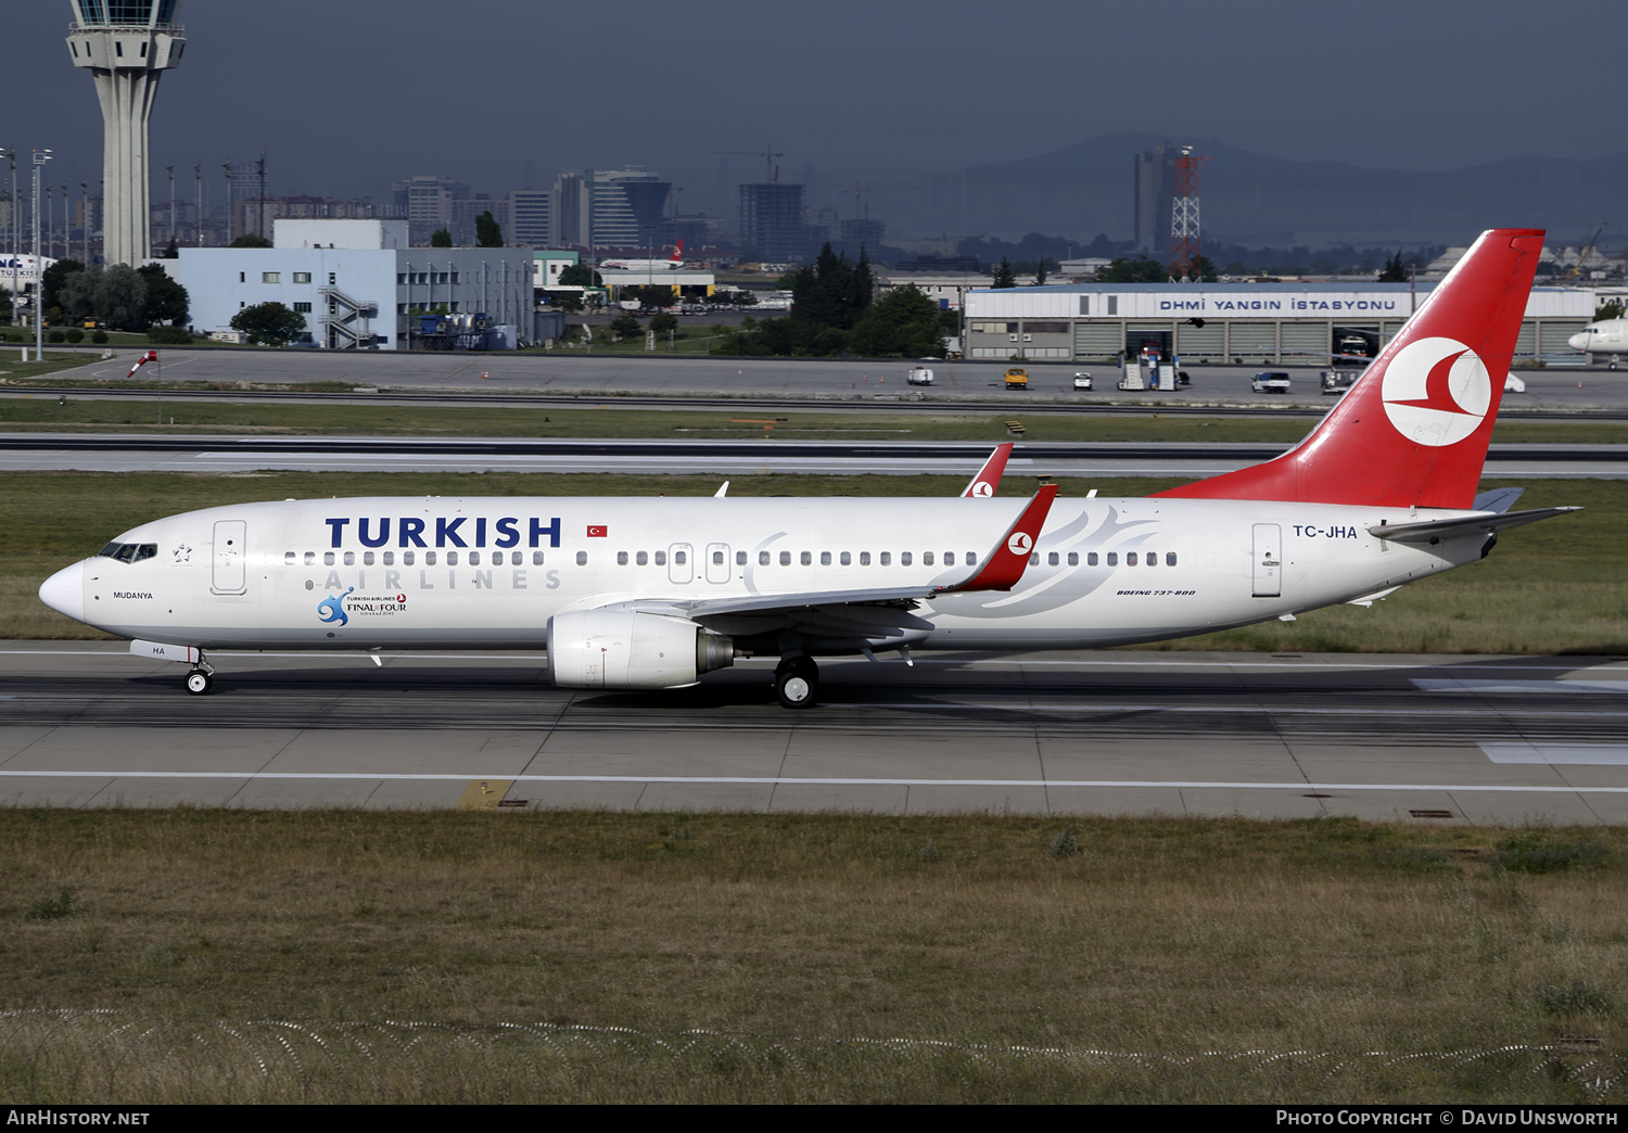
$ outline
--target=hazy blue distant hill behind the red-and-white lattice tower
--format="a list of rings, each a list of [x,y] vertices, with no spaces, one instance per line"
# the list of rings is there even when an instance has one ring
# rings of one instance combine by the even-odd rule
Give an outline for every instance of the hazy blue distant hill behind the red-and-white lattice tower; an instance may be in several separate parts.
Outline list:
[[[1548,228],[1586,239],[1612,220],[1628,231],[1628,151],[1600,158],[1509,158],[1418,173],[1345,161],[1289,161],[1208,138],[1110,133],[1017,161],[930,174],[923,230],[1027,231],[1128,239],[1131,156],[1159,142],[1213,153],[1200,181],[1205,234],[1239,244],[1465,244],[1483,228]]]

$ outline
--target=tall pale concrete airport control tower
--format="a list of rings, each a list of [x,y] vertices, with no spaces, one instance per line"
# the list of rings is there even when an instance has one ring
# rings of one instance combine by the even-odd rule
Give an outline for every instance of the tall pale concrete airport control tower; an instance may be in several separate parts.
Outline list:
[[[140,267],[148,231],[147,119],[158,78],[181,63],[181,0],[68,0],[68,50],[88,67],[103,104],[103,259]]]

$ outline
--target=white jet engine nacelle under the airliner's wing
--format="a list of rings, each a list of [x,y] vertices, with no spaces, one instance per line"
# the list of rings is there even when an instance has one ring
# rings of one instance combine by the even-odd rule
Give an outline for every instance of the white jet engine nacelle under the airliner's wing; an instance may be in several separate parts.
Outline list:
[[[563,689],[676,689],[733,664],[733,638],[684,617],[597,609],[549,619],[549,676]]]

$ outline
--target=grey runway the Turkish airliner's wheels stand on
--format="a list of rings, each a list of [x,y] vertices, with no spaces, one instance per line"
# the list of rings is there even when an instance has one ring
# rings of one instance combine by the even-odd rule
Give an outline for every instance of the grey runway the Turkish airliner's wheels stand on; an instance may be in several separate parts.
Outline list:
[[[1034,653],[555,689],[536,653],[0,645],[13,806],[606,807],[1628,820],[1628,659]]]

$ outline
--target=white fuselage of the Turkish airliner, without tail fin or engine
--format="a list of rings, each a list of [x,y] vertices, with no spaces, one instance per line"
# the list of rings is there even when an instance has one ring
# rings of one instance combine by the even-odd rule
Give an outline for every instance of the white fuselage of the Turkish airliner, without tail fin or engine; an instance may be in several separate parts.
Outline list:
[[[119,544],[153,555],[88,558],[47,583],[47,601],[73,614],[78,597],[73,615],[120,636],[205,650],[539,648],[555,614],[630,599],[952,584],[1022,508],[679,497],[233,505],[125,532]],[[1368,531],[1457,514],[1472,513],[1058,500],[1011,591],[926,601],[917,614],[933,628],[905,643],[1094,648],[1260,622],[1475,562],[1485,536],[1431,547]]]

